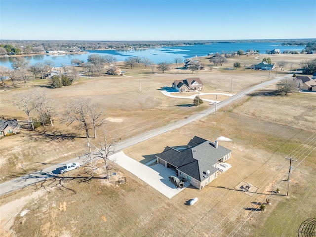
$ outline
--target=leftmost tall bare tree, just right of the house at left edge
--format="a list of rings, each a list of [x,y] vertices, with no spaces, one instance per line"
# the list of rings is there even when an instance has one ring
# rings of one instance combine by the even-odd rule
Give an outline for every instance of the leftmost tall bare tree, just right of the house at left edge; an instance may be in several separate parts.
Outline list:
[[[33,97],[32,93],[30,91],[20,93],[16,96],[15,100],[11,100],[11,104],[18,108],[19,110],[22,110],[26,113],[28,117],[28,124],[31,123],[32,130],[34,131],[34,122],[32,119],[32,112],[35,109],[34,103],[33,103]]]

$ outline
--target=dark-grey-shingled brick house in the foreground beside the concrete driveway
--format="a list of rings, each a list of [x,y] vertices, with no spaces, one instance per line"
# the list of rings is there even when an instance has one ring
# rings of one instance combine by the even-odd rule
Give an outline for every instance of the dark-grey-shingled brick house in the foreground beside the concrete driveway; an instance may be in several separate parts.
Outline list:
[[[174,169],[178,178],[188,181],[197,189],[202,189],[220,172],[225,172],[231,167],[225,161],[231,158],[232,151],[195,136],[182,148],[166,147],[156,155],[157,163],[166,168]]]

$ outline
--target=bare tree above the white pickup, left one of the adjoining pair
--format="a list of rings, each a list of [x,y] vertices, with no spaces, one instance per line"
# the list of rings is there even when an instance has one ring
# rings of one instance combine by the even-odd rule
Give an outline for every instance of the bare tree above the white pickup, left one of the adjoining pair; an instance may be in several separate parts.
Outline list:
[[[87,138],[89,137],[89,127],[91,126],[89,122],[89,107],[89,101],[79,99],[78,101],[70,103],[65,111],[65,118],[68,121],[67,125],[77,123],[75,127],[79,130],[84,130]]]

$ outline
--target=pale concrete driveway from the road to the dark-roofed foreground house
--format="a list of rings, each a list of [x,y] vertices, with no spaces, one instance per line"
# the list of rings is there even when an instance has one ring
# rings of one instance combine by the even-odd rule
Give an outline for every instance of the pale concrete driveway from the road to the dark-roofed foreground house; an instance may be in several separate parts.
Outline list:
[[[168,178],[170,175],[175,176],[175,172],[161,164],[145,165],[126,156],[122,151],[110,156],[110,158],[168,198],[175,196],[190,185],[185,182],[185,188],[176,189]]]

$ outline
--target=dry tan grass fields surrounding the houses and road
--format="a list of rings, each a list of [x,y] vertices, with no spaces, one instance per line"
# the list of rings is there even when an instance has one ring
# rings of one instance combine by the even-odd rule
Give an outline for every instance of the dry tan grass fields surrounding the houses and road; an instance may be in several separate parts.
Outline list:
[[[288,56],[288,61],[302,60],[302,55],[298,55],[299,59],[292,58],[295,55]],[[258,59],[234,60],[250,64]],[[133,73],[143,75],[142,71],[146,70],[136,68]],[[244,69],[219,68],[193,75],[192,72],[176,73],[177,69],[173,69],[153,77],[80,79],[70,87],[43,89],[56,99],[60,111],[65,103],[79,97],[98,102],[107,113],[105,129],[111,136],[126,139],[208,108],[206,104],[186,107],[183,105],[192,103],[191,100],[162,95],[159,89],[170,86],[174,79],[199,77],[205,93],[229,92],[232,79],[233,93],[268,80],[268,72]],[[139,80],[142,92],[138,91]],[[38,84],[44,85],[44,82],[34,81],[28,88]],[[119,89],[113,90],[108,84],[115,84]],[[26,119],[9,104],[9,100],[23,90],[21,87],[0,91],[3,117]],[[41,183],[0,197],[0,235],[297,236],[300,224],[316,217],[315,208],[311,208],[316,204],[316,145],[306,142],[308,138],[316,139],[316,107],[311,103],[316,101],[316,95],[276,96],[274,91],[274,85],[262,88],[219,110],[216,115],[124,150],[126,155],[145,163],[165,146],[185,145],[195,135],[211,141],[219,136],[232,139],[232,142],[220,141],[233,151],[227,161],[232,168],[201,191],[190,186],[168,199],[120,167],[116,167],[118,174],[110,182],[98,178],[86,181],[80,168],[67,173],[63,179],[52,180],[53,183]],[[82,133],[56,119],[55,126],[46,127],[45,132],[42,128],[36,132],[23,130],[19,135],[0,140],[1,182],[12,178],[12,174],[41,169],[49,163],[86,152],[86,139],[81,136]],[[285,197],[289,166],[285,157],[288,155],[298,161],[291,174],[289,196]],[[114,181],[121,176],[126,177],[127,183],[117,185]],[[252,196],[236,190],[242,181],[259,190]],[[281,190],[280,194],[271,192],[276,188]],[[194,197],[199,201],[194,206],[188,205],[188,200]],[[267,197],[272,205],[266,205],[266,211],[257,211]]]

